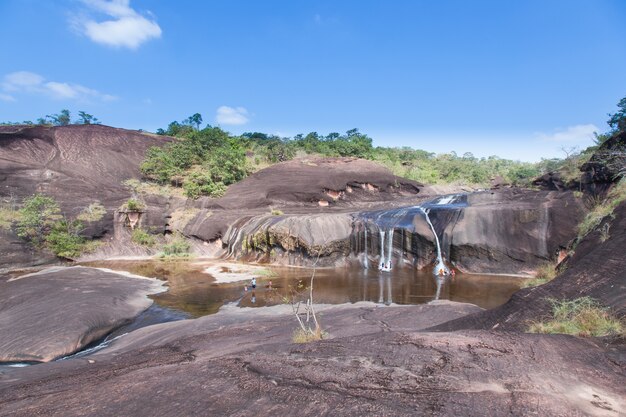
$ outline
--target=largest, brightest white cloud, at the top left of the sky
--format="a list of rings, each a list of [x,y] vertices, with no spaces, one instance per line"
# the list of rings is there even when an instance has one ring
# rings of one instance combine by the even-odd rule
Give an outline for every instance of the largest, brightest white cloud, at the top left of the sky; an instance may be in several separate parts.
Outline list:
[[[90,17],[74,17],[72,25],[89,39],[112,47],[137,49],[150,39],[161,37],[161,27],[130,7],[130,0],[82,0],[90,9],[112,19],[97,22]]]

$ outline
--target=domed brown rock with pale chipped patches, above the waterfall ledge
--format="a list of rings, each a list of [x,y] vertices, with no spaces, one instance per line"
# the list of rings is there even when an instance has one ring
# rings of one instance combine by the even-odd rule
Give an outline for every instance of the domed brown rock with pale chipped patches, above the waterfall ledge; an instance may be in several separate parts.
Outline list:
[[[414,198],[422,187],[363,159],[295,159],[233,184],[220,199],[199,199],[200,210],[182,232],[213,241],[224,238],[229,227],[255,215],[269,214],[272,208],[314,216],[337,210],[345,212],[350,208]]]

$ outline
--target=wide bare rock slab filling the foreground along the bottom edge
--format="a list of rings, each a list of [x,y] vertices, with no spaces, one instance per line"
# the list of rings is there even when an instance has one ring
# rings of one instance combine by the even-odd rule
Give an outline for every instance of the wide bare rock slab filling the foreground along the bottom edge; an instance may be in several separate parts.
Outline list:
[[[466,314],[471,306],[334,308],[323,312],[331,338],[304,345],[290,343],[296,326],[293,317],[275,317],[269,311],[152,326],[89,358],[6,371],[0,375],[0,414],[607,416],[626,412],[626,378],[619,354],[592,341],[421,330],[429,323]]]

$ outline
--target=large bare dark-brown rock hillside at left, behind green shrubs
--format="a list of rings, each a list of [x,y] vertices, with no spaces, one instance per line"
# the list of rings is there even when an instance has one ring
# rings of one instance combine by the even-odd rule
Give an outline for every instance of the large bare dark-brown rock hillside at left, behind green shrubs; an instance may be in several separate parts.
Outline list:
[[[149,147],[169,141],[171,138],[102,125],[0,126],[0,198],[19,203],[43,193],[54,197],[63,213],[72,218],[97,202],[106,213],[86,222],[83,234],[111,237],[115,211],[131,196],[122,183],[140,177],[139,165]],[[156,216],[161,218],[162,230],[164,211]],[[55,259],[0,228],[0,269]]]

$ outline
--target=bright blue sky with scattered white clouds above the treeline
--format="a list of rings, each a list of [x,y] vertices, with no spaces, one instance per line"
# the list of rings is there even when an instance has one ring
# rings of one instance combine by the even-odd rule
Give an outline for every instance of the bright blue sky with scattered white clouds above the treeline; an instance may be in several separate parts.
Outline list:
[[[626,96],[626,2],[0,0],[0,120],[357,127],[380,146],[563,156]]]

